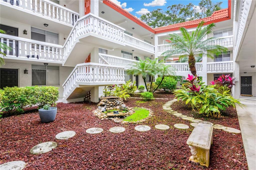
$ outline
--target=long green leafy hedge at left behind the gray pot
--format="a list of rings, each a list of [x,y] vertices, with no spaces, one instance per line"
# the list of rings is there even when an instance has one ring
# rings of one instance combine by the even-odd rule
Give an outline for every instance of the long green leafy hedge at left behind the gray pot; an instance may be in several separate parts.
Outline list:
[[[33,105],[55,105],[59,99],[58,87],[52,86],[6,87],[0,91],[0,110],[8,114],[23,113]]]

